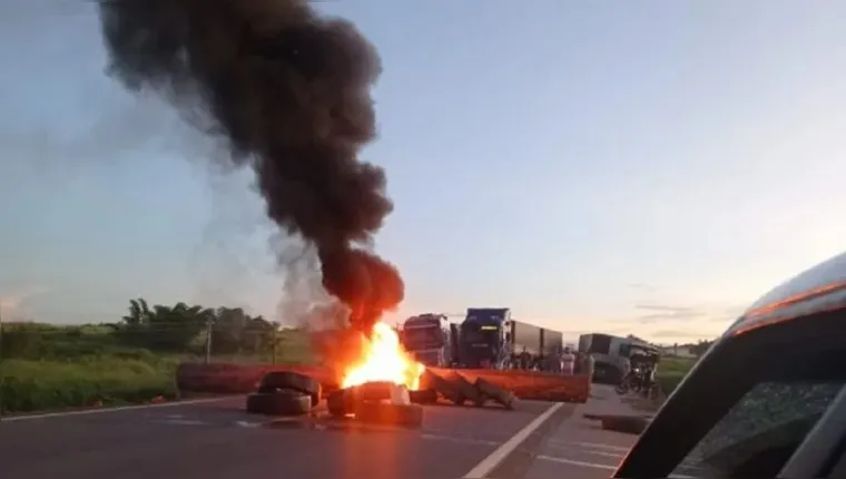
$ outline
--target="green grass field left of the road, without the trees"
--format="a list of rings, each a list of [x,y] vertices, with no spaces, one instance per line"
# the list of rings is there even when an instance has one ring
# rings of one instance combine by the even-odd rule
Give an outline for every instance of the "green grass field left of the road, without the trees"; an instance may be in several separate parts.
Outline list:
[[[203,348],[154,352],[121,344],[104,326],[26,325],[27,341],[4,348],[0,359],[0,405],[6,412],[29,412],[86,405],[144,403],[175,394],[180,361],[205,360]],[[6,339],[14,326],[6,325]],[[20,330],[18,330],[20,332]],[[278,333],[276,362],[308,359],[305,335]],[[18,338],[20,340],[20,338]],[[4,341],[9,345],[11,341]],[[214,351],[213,351],[214,352]],[[212,361],[270,363],[273,350],[260,354],[212,354]]]

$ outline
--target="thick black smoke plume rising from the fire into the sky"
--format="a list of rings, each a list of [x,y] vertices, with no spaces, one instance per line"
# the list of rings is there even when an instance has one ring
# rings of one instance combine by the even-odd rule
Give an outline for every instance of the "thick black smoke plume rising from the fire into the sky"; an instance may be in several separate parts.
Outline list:
[[[375,48],[348,21],[299,0],[101,0],[109,75],[155,91],[252,167],[267,216],[302,235],[323,285],[370,331],[403,299],[370,250],[393,204],[382,168],[358,160],[376,136]]]

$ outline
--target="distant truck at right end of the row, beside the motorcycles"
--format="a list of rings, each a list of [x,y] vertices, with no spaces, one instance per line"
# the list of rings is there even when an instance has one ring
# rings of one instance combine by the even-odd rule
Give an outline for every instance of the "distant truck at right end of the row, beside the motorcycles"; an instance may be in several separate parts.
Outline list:
[[[637,338],[604,333],[580,335],[579,352],[593,358],[593,380],[607,384],[617,384],[626,378],[632,354],[658,356],[659,353],[657,348]]]

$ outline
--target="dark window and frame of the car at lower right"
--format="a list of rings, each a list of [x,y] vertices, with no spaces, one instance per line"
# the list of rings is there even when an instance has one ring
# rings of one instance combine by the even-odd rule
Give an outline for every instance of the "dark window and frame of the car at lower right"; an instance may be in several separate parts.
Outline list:
[[[614,477],[844,477],[844,321],[845,310],[827,311],[725,339]]]

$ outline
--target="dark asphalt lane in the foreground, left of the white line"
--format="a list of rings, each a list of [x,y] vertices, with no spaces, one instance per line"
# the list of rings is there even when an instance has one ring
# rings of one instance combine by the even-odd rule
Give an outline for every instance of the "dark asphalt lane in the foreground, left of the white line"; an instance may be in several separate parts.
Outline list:
[[[458,479],[478,471],[498,448],[502,452],[500,446],[514,442],[509,440],[552,405],[523,401],[515,411],[430,407],[421,430],[397,430],[270,426],[246,414],[243,401],[2,420],[0,476]],[[561,421],[574,409],[563,404],[550,419]],[[542,439],[534,436],[525,444]],[[519,456],[531,452],[525,444],[505,458],[495,477],[523,475],[529,463]]]

